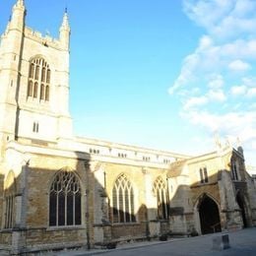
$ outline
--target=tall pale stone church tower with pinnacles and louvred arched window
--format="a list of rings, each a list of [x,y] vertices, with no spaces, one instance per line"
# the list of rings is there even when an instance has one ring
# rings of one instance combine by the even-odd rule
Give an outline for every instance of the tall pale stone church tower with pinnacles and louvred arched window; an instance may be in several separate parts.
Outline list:
[[[59,38],[26,26],[24,0],[17,0],[0,41],[0,145],[56,143],[72,138],[69,113],[69,42],[67,11]]]

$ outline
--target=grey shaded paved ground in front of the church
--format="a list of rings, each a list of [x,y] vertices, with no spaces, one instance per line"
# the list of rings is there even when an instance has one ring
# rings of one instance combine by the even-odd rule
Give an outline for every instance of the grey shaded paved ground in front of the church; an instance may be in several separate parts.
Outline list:
[[[230,248],[222,251],[213,250],[213,238],[228,233]],[[152,241],[119,245],[112,250],[91,251],[66,251],[53,255],[58,256],[81,256],[81,255],[104,255],[104,256],[255,256],[256,255],[256,227],[238,231],[215,233],[197,237],[176,238],[165,242]]]

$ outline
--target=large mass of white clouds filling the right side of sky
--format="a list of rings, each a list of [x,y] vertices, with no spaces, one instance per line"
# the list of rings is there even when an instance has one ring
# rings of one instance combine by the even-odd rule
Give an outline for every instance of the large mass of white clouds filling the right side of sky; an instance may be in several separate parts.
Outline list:
[[[184,102],[181,116],[191,124],[209,135],[219,131],[229,138],[239,137],[252,151],[256,145],[256,1],[183,0],[183,7],[205,32],[185,58],[169,93]],[[195,87],[200,90],[193,92]]]

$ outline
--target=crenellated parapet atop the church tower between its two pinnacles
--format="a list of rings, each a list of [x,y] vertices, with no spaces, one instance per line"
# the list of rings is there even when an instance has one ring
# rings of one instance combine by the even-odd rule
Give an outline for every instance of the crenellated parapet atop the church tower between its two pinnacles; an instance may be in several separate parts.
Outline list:
[[[33,31],[29,27],[25,28],[25,36],[28,37],[28,38],[31,38],[32,40],[41,42],[45,46],[51,46],[51,47],[57,47],[57,48],[60,47],[59,39],[51,37],[48,34],[42,35],[41,32]]]

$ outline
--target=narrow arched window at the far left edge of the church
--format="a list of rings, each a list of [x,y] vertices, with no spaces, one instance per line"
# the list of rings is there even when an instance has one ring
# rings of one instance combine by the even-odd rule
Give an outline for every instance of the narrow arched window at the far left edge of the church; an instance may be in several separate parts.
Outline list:
[[[5,202],[5,214],[4,214],[4,228],[12,228],[14,226],[15,216],[15,175],[13,171],[10,171],[5,181],[4,189],[4,202]]]

